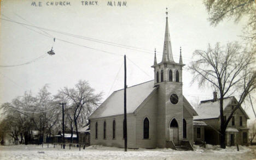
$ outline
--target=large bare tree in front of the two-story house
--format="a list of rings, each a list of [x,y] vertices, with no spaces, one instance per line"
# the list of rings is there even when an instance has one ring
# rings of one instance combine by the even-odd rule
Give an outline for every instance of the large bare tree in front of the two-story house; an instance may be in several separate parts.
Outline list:
[[[193,73],[193,82],[199,86],[210,85],[218,90],[220,101],[220,146],[226,147],[225,131],[235,110],[241,106],[246,96],[256,87],[256,72],[253,52],[242,49],[237,42],[226,46],[216,44],[214,48],[208,45],[206,51],[196,50],[193,53],[196,61],[192,61],[189,69]],[[223,99],[236,93],[238,104],[224,120]]]

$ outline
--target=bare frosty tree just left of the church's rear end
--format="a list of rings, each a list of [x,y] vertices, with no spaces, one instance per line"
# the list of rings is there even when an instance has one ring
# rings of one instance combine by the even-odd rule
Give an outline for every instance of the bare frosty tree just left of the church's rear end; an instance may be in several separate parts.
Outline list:
[[[79,140],[78,127],[79,121],[88,120],[89,115],[96,109],[100,103],[102,93],[95,94],[88,82],[80,80],[74,88],[63,88],[55,96],[56,100],[65,100],[66,108],[72,108],[72,119],[74,120],[77,140]],[[83,124],[81,125],[83,126]]]

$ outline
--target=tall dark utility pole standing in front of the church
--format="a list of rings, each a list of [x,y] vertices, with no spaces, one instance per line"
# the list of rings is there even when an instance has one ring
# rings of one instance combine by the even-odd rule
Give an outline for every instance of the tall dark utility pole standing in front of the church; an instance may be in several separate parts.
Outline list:
[[[124,140],[125,140],[125,152],[127,151],[127,119],[126,119],[126,56],[124,56]]]

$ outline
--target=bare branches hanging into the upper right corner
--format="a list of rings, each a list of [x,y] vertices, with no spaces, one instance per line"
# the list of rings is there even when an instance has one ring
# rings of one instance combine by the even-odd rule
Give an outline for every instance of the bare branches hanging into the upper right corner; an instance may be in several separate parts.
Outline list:
[[[256,1],[254,0],[203,0],[208,14],[208,20],[211,25],[217,24],[224,19],[233,18],[239,22],[242,17],[247,18],[245,34],[247,40],[253,42],[255,47],[256,41]]]

